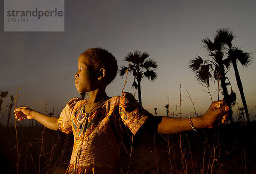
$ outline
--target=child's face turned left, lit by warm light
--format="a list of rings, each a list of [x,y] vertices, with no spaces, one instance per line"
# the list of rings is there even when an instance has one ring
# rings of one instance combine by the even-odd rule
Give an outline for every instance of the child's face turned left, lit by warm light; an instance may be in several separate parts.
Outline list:
[[[81,54],[77,61],[78,71],[75,74],[75,85],[79,93],[90,92],[96,90],[96,75],[92,71],[92,67],[87,57]]]

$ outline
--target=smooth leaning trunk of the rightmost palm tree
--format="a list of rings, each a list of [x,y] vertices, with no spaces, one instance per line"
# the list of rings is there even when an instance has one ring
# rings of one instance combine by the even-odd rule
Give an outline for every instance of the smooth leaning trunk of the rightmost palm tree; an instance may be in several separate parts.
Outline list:
[[[250,116],[249,116],[249,113],[248,113],[248,108],[247,108],[246,100],[245,100],[245,97],[244,97],[243,85],[242,85],[241,78],[240,78],[238,68],[237,68],[237,65],[236,65],[236,60],[232,60],[232,64],[233,64],[233,68],[235,70],[236,83],[237,83],[237,86],[239,88],[239,92],[240,92],[240,95],[241,95],[241,100],[242,100],[242,103],[243,103],[243,106],[244,106],[244,111],[245,111],[245,114],[246,114],[246,118],[247,118],[248,122],[250,122],[250,119],[249,119]]]

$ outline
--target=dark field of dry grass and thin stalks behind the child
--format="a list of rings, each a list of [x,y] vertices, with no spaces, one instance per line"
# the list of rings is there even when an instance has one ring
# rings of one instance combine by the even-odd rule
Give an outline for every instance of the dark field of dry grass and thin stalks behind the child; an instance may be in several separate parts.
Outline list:
[[[180,105],[177,106],[177,113],[171,114],[172,117],[180,117],[182,92],[180,85]],[[210,92],[209,95],[212,97]],[[17,97],[16,94],[16,99]],[[194,107],[194,114],[198,116],[195,102],[190,95],[189,98]],[[167,106],[166,113],[169,115],[169,103]],[[55,114],[54,109],[52,112]],[[45,113],[47,114],[46,106]],[[1,114],[3,120],[6,114],[3,112]],[[13,113],[11,114],[13,116]],[[246,126],[243,122],[239,111],[238,123],[198,132],[166,135],[145,131],[133,136],[127,130],[120,152],[120,172],[124,174],[253,173],[256,171],[256,122]],[[73,135],[45,129],[40,123],[35,125],[38,126],[28,127],[17,123],[11,127],[3,124],[0,126],[1,174],[65,172],[72,153]]]

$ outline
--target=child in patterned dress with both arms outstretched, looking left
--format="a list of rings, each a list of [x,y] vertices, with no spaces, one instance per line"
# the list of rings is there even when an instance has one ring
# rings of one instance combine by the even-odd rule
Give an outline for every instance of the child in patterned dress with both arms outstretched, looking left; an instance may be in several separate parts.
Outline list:
[[[35,119],[47,128],[73,132],[74,146],[67,174],[117,174],[124,125],[135,135],[142,129],[173,134],[198,128],[213,128],[227,121],[228,106],[213,102],[201,117],[154,117],[132,94],[108,97],[105,88],[116,77],[115,57],[102,48],[89,48],[78,58],[75,86],[89,92],[88,100],[71,99],[60,117],[49,117],[28,107],[15,109],[15,118]]]

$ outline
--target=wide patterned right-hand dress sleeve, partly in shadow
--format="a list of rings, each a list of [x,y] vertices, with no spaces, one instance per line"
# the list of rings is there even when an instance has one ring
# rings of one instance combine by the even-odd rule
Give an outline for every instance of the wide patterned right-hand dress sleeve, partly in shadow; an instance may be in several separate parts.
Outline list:
[[[123,92],[119,99],[119,114],[123,123],[135,135],[150,114],[130,93]]]

